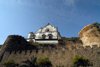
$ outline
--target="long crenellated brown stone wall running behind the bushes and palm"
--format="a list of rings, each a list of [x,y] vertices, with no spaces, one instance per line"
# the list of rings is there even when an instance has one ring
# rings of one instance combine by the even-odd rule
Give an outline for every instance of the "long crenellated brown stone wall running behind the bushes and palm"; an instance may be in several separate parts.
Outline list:
[[[71,67],[75,55],[85,57],[93,62],[93,67],[100,67],[100,48],[97,46],[86,47],[73,47],[73,48],[48,48],[38,50],[22,50],[22,51],[6,51],[3,55],[0,66],[3,62],[14,59],[15,62],[21,64],[22,61],[32,56],[37,58],[49,57],[54,67],[63,66]]]

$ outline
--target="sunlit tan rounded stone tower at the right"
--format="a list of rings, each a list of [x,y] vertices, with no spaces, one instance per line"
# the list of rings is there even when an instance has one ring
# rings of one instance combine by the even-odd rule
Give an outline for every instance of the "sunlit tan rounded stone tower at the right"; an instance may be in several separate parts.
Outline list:
[[[80,40],[83,42],[83,46],[100,46],[100,31],[93,24],[85,26],[79,32]]]

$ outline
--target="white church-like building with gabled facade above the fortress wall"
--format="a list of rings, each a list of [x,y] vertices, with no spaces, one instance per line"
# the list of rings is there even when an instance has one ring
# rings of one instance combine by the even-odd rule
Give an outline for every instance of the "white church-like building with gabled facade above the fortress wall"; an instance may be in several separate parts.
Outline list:
[[[53,27],[48,23],[36,33],[30,32],[27,41],[33,41],[34,43],[58,43],[58,39],[60,38],[61,36],[58,32],[58,28]]]

